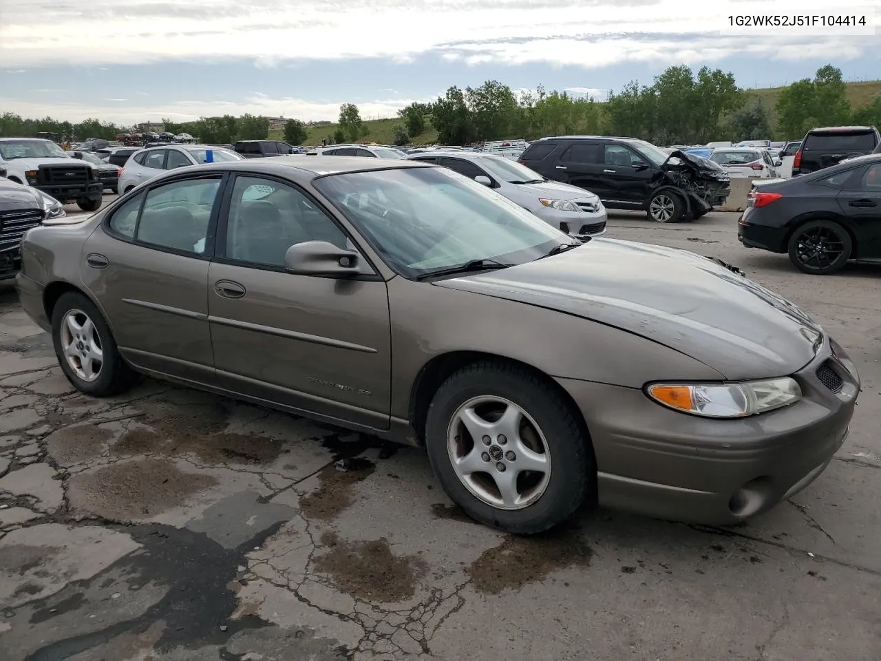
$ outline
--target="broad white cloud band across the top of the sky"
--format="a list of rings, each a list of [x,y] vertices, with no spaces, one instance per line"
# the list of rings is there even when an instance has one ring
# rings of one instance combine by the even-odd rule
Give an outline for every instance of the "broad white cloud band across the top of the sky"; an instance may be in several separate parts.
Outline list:
[[[780,15],[862,11],[878,25],[870,11],[877,0],[854,4],[840,10],[827,0],[776,0],[773,6]],[[89,11],[81,11],[77,4],[30,0],[4,7],[0,41],[9,67],[225,57],[250,58],[261,67],[353,57],[408,63],[435,51],[472,64],[595,68],[628,61],[712,63],[743,52],[784,59],[828,52],[843,59],[879,48],[877,37],[848,36],[842,28],[819,38],[804,28],[774,38],[718,36],[730,29],[730,15],[765,14],[770,6],[766,0],[277,0],[271,6],[257,0],[91,0]],[[419,29],[375,38],[388,33],[389,17]],[[70,41],[77,33],[101,38],[83,48]]]

